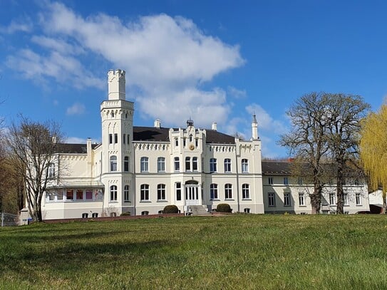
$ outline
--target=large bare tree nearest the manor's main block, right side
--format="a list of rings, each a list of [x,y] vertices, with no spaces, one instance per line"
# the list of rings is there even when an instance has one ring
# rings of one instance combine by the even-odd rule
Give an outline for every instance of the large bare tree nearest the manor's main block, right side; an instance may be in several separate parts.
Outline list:
[[[282,135],[279,145],[289,149],[299,164],[306,164],[314,185],[309,193],[313,213],[320,212],[321,192],[323,190],[322,163],[329,147],[326,139],[326,99],[324,93],[309,93],[297,99],[287,111],[291,121],[291,131]]]

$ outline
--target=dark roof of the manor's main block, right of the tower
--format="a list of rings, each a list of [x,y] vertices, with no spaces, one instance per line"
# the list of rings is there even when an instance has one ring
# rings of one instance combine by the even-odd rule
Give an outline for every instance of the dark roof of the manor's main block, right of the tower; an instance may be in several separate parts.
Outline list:
[[[173,130],[179,130],[174,128]],[[169,142],[170,128],[154,128],[154,127],[133,127],[133,140],[134,141],[162,141]],[[207,143],[217,144],[234,144],[234,137],[217,132],[215,130],[206,130]]]

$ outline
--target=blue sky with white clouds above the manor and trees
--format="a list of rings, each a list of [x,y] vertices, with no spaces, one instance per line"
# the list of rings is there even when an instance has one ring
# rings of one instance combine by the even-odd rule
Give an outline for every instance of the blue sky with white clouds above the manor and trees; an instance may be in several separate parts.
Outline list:
[[[0,0],[0,115],[56,120],[69,142],[100,140],[106,74],[126,71],[135,125],[251,137],[264,157],[285,112],[312,91],[387,94],[386,1]]]

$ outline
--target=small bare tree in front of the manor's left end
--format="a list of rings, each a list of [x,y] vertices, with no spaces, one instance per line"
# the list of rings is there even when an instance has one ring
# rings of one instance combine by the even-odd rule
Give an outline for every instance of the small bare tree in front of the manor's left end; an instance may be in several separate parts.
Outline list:
[[[53,121],[38,123],[21,116],[20,123],[9,128],[6,144],[26,185],[26,202],[34,221],[42,221],[41,199],[51,180],[48,170],[58,163],[62,138],[60,126]]]

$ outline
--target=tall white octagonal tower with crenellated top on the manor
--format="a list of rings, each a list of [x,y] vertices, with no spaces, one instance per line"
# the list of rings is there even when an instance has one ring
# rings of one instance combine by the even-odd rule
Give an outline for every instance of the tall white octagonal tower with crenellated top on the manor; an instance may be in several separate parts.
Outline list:
[[[125,71],[108,71],[108,100],[100,105],[101,181],[105,185],[106,214],[131,211],[134,205],[133,111],[133,102],[125,100]]]

